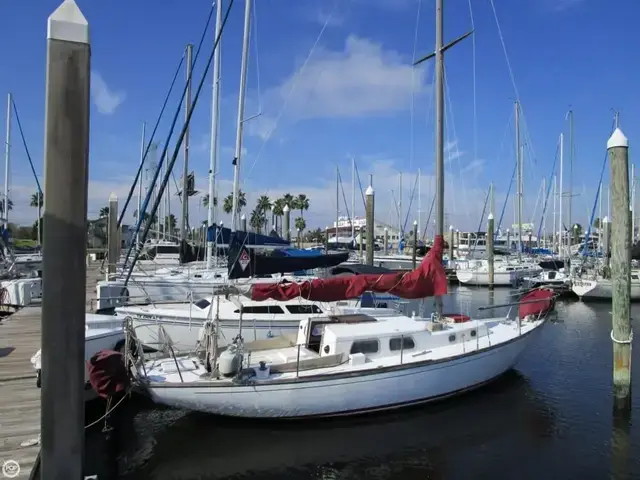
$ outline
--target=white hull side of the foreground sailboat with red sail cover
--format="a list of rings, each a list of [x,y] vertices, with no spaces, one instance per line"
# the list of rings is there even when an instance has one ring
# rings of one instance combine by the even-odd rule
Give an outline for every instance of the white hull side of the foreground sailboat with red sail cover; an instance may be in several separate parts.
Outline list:
[[[457,395],[502,375],[543,324],[537,322],[527,333],[523,326],[523,335],[480,345],[479,350],[469,341],[466,353],[441,360],[249,385],[168,383],[151,376],[146,389],[157,403],[233,417],[304,418],[395,409]],[[517,329],[516,322],[513,328]]]

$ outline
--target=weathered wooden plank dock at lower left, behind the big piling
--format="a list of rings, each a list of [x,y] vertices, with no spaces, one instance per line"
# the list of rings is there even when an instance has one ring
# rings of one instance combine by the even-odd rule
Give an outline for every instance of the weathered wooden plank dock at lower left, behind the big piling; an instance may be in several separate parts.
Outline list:
[[[87,269],[87,305],[95,298],[98,265]],[[40,389],[31,357],[40,349],[41,308],[29,306],[0,320],[0,468],[19,464],[29,478],[40,450]],[[11,478],[3,475],[0,479]]]

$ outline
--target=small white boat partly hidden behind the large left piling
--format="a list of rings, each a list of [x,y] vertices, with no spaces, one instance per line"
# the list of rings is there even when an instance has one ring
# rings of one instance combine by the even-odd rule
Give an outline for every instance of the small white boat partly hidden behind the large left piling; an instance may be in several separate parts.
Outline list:
[[[89,384],[89,372],[86,362],[101,350],[120,350],[124,346],[123,318],[117,315],[86,314],[85,326],[85,400],[92,400],[97,395]],[[36,370],[36,385],[40,387],[42,370],[42,351],[38,350],[31,357],[31,364]]]

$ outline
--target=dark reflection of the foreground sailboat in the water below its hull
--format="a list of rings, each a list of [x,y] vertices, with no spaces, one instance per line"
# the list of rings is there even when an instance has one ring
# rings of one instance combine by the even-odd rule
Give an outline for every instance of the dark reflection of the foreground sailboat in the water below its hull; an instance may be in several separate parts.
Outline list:
[[[396,413],[331,420],[242,420],[176,410],[139,413],[121,431],[120,478],[473,478],[505,452],[553,436],[555,413],[510,371],[474,393]],[[483,459],[484,458],[484,459]],[[476,465],[477,462],[480,462]],[[485,467],[482,465],[486,464]],[[518,476],[518,465],[510,472]],[[418,477],[415,477],[418,478]]]

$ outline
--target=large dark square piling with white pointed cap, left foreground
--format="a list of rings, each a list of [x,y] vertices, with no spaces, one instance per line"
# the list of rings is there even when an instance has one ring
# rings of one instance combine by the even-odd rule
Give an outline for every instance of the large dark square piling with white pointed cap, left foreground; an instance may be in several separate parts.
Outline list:
[[[83,478],[91,48],[74,0],[47,22],[40,477]],[[63,355],[60,352],[64,352]]]

